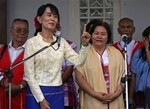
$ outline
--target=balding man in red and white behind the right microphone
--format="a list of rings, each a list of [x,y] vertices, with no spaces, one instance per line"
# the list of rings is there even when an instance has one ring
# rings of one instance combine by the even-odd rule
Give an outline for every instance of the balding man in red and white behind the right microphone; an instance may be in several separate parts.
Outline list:
[[[118,22],[118,33],[120,36],[122,35],[127,35],[127,73],[128,76],[131,77],[131,79],[128,81],[128,86],[131,87],[129,88],[129,98],[132,98],[133,95],[131,95],[131,90],[132,88],[132,72],[131,72],[131,63],[132,63],[132,57],[134,53],[141,47],[143,47],[142,41],[136,41],[133,39],[133,34],[135,32],[135,26],[134,26],[134,21],[130,18],[122,18]],[[124,45],[125,42],[118,41],[113,44],[115,48],[117,48],[123,55],[124,55]],[[125,93],[124,93],[125,95]],[[125,98],[124,98],[125,99]],[[129,100],[130,102],[132,101],[131,99]],[[130,103],[129,103],[130,104]]]

